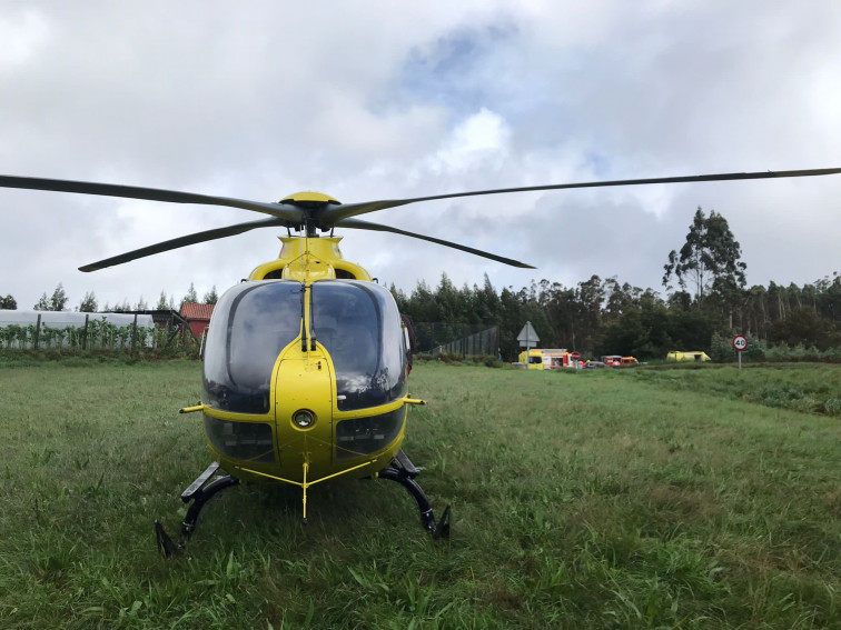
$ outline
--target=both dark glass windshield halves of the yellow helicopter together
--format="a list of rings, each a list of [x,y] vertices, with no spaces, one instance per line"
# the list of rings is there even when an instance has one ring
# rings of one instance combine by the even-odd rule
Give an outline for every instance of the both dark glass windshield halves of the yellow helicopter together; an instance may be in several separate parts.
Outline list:
[[[307,296],[308,343],[300,339]],[[229,289],[216,306],[205,347],[206,403],[222,411],[268,413],[275,362],[296,340],[301,351],[315,350],[318,342],[329,354],[339,411],[377,407],[406,393],[405,337],[386,289],[321,280],[307,292],[300,282],[265,280]]]

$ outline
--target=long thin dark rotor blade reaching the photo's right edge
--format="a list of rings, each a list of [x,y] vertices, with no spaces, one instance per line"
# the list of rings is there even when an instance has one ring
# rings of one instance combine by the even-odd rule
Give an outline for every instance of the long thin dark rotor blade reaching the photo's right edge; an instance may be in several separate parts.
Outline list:
[[[432,197],[414,197],[412,199],[390,199],[383,201],[363,201],[360,203],[344,203],[325,208],[316,213],[321,226],[338,224],[338,221],[357,214],[365,214],[386,208],[396,208],[417,201],[434,201],[436,199],[454,199],[456,197],[477,197],[479,194],[501,194],[503,192],[530,192],[535,190],[561,190],[567,188],[602,188],[609,186],[640,186],[647,183],[681,183],[692,181],[726,181],[738,179],[769,179],[769,178],[789,178],[789,177],[812,177],[824,174],[841,173],[841,168],[837,169],[812,169],[800,171],[760,171],[753,173],[720,173],[708,176],[687,176],[687,177],[662,177],[645,179],[621,179],[614,181],[586,181],[580,183],[553,183],[548,186],[526,186],[521,188],[497,188],[493,190],[476,190],[473,192],[453,192],[449,194],[434,194]]]

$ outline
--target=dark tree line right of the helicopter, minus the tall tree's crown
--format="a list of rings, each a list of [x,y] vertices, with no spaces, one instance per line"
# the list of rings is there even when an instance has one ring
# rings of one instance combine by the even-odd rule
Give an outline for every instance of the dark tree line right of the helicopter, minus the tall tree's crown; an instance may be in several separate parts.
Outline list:
[[[455,287],[442,274],[437,287],[424,282],[409,293],[394,286],[400,312],[415,322],[479,324],[499,329],[503,358],[521,351],[516,336],[531,321],[543,348],[567,348],[585,357],[602,354],[664,359],[670,350],[711,352],[716,338],[743,333],[770,344],[803,346],[820,351],[841,348],[841,276],[814,283],[783,287],[771,282],[740,292],[739,301],[721,308],[685,291],[663,298],[652,289],[616,278],[593,276],[575,287],[550,280],[497,292],[487,276],[483,284]],[[458,330],[444,327],[433,346],[452,341]]]

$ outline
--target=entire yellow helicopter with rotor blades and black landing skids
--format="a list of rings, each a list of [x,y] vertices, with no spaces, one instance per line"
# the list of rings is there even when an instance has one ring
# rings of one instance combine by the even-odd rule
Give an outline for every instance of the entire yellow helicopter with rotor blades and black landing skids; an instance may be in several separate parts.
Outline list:
[[[573,188],[792,178],[841,173],[841,168],[720,173],[561,183],[457,192],[410,199],[340,203],[318,192],[299,192],[277,203],[110,183],[0,176],[0,187],[122,197],[175,203],[227,206],[268,214],[168,240],[100,260],[95,271],[257,228],[286,228],[278,259],[258,266],[219,299],[202,356],[204,402],[181,409],[201,412],[215,457],[182,493],[189,503],[180,539],[156,521],[161,551],[181,550],[205,503],[240,482],[274,481],[307,490],[336,478],[388,479],[415,499],[423,527],[449,533],[449,507],[436,521],[416,481],[418,469],[402,450],[407,409],[423,404],[407,389],[410,334],[389,291],[363,267],[345,260],[334,228],[413,237],[521,268],[530,264],[452,241],[354,219],[419,201]],[[298,232],[291,236],[291,230]],[[330,232],[320,236],[319,232]]]

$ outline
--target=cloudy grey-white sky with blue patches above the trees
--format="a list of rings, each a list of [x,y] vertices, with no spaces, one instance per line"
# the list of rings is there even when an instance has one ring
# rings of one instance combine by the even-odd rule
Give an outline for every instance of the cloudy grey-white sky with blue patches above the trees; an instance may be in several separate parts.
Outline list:
[[[0,0],[0,173],[277,201],[841,167],[841,3]],[[841,271],[841,176],[531,192],[364,217],[537,267],[342,231],[382,283],[501,290],[596,273],[662,291],[697,207],[722,213],[749,284]],[[0,296],[70,307],[277,256],[264,229],[93,273],[78,267],[264,218],[231,208],[0,190]],[[338,232],[337,232],[338,233]]]

